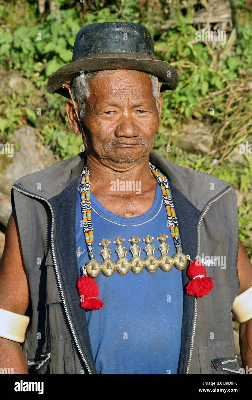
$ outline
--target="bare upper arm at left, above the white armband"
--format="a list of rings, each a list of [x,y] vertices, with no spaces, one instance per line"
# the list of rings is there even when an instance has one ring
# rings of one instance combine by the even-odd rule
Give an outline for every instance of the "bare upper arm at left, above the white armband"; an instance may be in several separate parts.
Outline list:
[[[10,215],[0,262],[0,308],[24,314],[29,302],[29,286],[24,269],[15,207]]]

